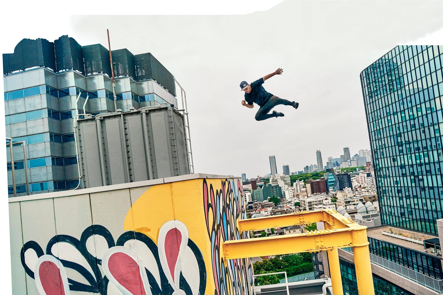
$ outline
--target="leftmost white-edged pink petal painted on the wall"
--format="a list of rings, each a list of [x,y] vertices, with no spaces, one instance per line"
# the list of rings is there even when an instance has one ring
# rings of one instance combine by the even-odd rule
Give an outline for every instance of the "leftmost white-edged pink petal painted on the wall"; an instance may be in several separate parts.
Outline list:
[[[41,256],[34,273],[35,284],[40,295],[70,295],[65,268],[54,256]]]

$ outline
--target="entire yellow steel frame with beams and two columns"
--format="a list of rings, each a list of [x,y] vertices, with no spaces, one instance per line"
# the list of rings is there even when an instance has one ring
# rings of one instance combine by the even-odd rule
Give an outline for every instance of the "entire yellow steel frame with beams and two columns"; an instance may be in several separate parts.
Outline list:
[[[366,226],[345,218],[333,209],[303,211],[293,214],[244,219],[238,222],[239,230],[259,230],[272,227],[324,222],[325,230],[303,234],[225,241],[226,259],[291,254],[301,252],[330,251],[329,264],[334,272],[334,294],[343,294],[337,248],[354,247],[354,263],[359,294],[374,294],[369,242]],[[332,276],[332,275],[331,275]]]

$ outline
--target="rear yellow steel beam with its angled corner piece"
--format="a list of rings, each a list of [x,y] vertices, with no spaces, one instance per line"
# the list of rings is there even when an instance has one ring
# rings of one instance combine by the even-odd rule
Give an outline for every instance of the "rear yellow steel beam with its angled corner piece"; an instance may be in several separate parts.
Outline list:
[[[319,211],[302,211],[292,214],[242,219],[238,221],[240,232],[246,230],[260,230],[272,227],[284,227],[293,225],[311,224],[313,222],[325,222],[325,228],[355,228],[361,229],[361,226],[345,218],[334,209]]]

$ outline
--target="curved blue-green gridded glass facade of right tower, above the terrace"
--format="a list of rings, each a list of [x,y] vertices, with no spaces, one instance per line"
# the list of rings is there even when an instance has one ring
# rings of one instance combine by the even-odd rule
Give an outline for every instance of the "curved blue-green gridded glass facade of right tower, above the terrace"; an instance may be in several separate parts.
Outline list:
[[[443,218],[443,46],[397,46],[361,72],[383,224]]]

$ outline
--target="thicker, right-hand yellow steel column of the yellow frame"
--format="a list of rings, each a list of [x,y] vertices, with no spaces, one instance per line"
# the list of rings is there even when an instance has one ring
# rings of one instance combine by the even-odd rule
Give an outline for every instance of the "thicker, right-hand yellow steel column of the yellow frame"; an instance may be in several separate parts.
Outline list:
[[[352,240],[354,242],[353,251],[358,294],[374,295],[374,282],[366,230],[354,230]]]

